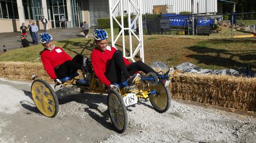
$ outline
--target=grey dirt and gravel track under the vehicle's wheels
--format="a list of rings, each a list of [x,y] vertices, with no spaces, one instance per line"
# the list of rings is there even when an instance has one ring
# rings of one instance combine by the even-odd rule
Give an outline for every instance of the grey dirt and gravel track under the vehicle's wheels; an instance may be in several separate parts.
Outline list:
[[[127,108],[129,125],[115,132],[107,96],[79,94],[61,99],[54,118],[39,113],[31,82],[0,79],[0,142],[255,142],[253,113],[172,100],[160,114],[150,102]]]

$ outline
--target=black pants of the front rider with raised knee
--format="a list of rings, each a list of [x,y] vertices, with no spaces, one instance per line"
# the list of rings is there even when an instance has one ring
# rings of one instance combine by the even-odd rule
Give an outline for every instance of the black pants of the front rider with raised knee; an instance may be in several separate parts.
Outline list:
[[[156,71],[154,71],[152,68],[150,68],[150,66],[146,65],[142,61],[137,61],[126,66],[123,60],[123,54],[118,50],[111,58],[105,74],[111,83],[121,83],[121,81],[127,80],[137,71],[142,71],[146,74],[149,72],[154,72],[158,75]]]

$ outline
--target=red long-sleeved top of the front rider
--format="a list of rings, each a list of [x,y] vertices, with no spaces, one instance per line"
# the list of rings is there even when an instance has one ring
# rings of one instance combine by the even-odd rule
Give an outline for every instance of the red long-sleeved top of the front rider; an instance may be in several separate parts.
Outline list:
[[[100,49],[94,49],[91,54],[91,61],[95,75],[106,86],[109,86],[111,83],[104,73],[107,71],[110,60],[113,57],[116,50],[117,49],[114,47],[107,46],[106,51],[103,52]],[[131,62],[126,60],[126,58],[123,57],[123,59],[125,65],[131,64]]]

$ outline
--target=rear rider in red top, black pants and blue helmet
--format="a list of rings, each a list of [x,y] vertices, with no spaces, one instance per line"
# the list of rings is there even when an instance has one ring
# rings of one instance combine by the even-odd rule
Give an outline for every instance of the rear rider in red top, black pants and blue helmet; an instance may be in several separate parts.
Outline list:
[[[41,61],[44,69],[55,84],[60,85],[59,79],[70,77],[78,69],[81,70],[83,56],[76,55],[71,58],[61,47],[55,47],[52,36],[49,33],[41,33],[39,36],[44,50],[41,52]]]

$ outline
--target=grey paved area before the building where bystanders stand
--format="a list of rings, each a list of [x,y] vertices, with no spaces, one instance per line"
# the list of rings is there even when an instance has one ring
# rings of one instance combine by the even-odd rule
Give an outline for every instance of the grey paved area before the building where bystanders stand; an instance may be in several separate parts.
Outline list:
[[[27,35],[27,39],[30,43],[30,46],[33,46],[32,38],[29,34]],[[40,33],[44,31],[39,30],[38,36]],[[66,28],[66,29],[50,29],[46,31],[53,36],[53,40],[63,40],[69,38],[84,38],[84,35],[81,35],[81,28]],[[88,35],[91,37],[91,35]],[[38,39],[39,40],[39,39]],[[38,41],[39,44],[40,41]],[[3,52],[3,45],[6,46],[7,51],[11,51],[13,49],[20,48],[21,39],[20,39],[20,32],[8,32],[8,33],[0,33],[0,53]]]

